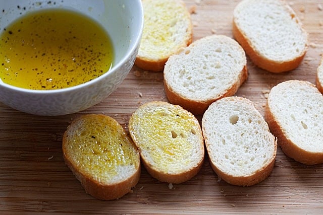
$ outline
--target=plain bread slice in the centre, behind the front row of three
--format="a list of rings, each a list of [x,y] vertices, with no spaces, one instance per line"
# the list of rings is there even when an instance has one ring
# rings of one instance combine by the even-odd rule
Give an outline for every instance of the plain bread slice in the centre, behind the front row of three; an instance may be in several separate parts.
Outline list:
[[[168,100],[193,114],[214,101],[234,95],[247,79],[242,47],[224,35],[201,38],[172,55],[164,69]]]

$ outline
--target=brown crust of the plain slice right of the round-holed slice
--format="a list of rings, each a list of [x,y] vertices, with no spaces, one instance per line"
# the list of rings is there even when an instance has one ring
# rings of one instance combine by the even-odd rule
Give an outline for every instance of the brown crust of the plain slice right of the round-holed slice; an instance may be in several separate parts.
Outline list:
[[[269,108],[268,101],[265,106],[264,118],[268,123],[271,132],[278,138],[278,145],[290,158],[305,165],[323,163],[323,153],[307,152],[295,145],[284,135],[283,128]]]

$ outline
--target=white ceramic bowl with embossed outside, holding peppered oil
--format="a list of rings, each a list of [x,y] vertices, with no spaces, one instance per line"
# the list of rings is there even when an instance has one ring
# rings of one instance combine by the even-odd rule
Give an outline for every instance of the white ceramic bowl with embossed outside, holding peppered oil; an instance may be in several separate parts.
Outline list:
[[[114,65],[109,72],[92,81],[58,90],[23,89],[0,80],[0,102],[35,115],[75,113],[105,99],[128,75],[138,53],[143,29],[141,0],[0,0],[0,31],[28,11],[47,8],[72,9],[98,21],[111,37]]]

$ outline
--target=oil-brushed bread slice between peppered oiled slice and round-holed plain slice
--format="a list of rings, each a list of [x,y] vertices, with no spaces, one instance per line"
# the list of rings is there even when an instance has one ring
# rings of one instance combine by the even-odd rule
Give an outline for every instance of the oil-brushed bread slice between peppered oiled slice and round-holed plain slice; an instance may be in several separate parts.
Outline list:
[[[202,167],[200,124],[178,105],[161,101],[143,104],[132,114],[129,132],[146,170],[161,182],[185,182]]]

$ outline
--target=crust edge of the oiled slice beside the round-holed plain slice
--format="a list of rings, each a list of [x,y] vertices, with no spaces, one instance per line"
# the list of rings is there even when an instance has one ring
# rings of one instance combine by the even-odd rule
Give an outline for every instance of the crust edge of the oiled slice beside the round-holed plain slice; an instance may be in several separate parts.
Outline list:
[[[165,106],[165,105],[172,105],[169,104],[167,102],[163,102],[163,101],[153,101],[153,102],[148,102],[143,104],[141,107],[139,108],[145,108],[145,107],[149,107],[151,105],[157,105],[158,107],[160,106]],[[181,108],[181,107],[180,107]],[[182,109],[182,108],[181,108]],[[185,111],[185,110],[184,110]],[[189,113],[191,117],[194,117],[191,113]],[[197,119],[191,118],[192,120],[194,120],[195,125],[197,125],[198,127],[200,127],[199,122],[197,121]],[[196,165],[192,166],[191,168],[189,168],[186,171],[180,171],[180,172],[176,172],[176,173],[168,173],[168,172],[164,172],[164,171],[160,171],[156,168],[153,167],[153,165],[144,157],[142,156],[142,151],[143,149],[140,148],[140,144],[137,140],[137,137],[135,137],[134,132],[136,131],[135,129],[135,123],[134,123],[134,118],[131,117],[129,120],[129,131],[130,131],[130,135],[135,143],[135,145],[137,146],[139,153],[140,153],[140,157],[141,157],[141,163],[143,164],[143,166],[145,167],[145,169],[147,170],[147,172],[154,178],[156,178],[158,181],[161,182],[167,182],[167,183],[173,183],[173,184],[179,184],[179,183],[183,183],[185,181],[190,180],[192,177],[194,177],[202,168],[203,162],[204,162],[204,138],[202,135],[202,130],[199,129],[199,131],[196,131],[197,135],[199,135],[199,142],[197,142],[196,144],[199,145],[200,147],[200,152],[201,153],[201,157],[199,158],[199,161],[196,163]],[[141,141],[145,141],[145,140],[141,140]],[[151,143],[153,144],[153,143]]]

